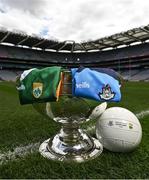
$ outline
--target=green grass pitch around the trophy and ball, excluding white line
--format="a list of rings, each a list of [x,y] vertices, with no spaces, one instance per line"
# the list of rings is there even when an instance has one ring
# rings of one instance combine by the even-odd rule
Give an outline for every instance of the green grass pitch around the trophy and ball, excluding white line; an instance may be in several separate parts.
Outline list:
[[[124,83],[122,101],[109,103],[110,106],[128,108],[134,113],[149,110],[149,83]],[[80,164],[50,161],[33,152],[0,162],[0,178],[149,178],[149,115],[140,122],[143,137],[134,152],[112,153],[104,149],[100,157]],[[58,129],[54,121],[43,118],[31,105],[19,104],[13,83],[0,82],[0,154],[43,142]]]

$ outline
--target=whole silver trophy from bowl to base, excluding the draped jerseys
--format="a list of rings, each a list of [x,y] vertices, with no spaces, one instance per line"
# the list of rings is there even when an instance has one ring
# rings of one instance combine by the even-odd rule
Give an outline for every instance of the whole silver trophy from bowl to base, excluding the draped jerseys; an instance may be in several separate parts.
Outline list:
[[[39,113],[61,124],[59,132],[40,145],[39,152],[51,160],[84,162],[96,158],[103,150],[99,140],[80,128],[80,124],[90,120],[89,115],[97,104],[73,97],[70,73],[64,75],[59,101],[33,104]]]

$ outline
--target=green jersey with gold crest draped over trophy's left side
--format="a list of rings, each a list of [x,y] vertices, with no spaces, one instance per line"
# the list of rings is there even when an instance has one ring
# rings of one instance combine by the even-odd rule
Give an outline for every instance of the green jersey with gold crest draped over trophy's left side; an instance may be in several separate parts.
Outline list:
[[[61,80],[61,67],[24,71],[18,81],[20,104],[57,100],[57,89]]]

